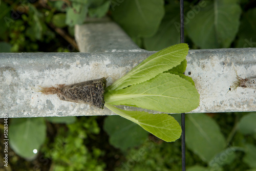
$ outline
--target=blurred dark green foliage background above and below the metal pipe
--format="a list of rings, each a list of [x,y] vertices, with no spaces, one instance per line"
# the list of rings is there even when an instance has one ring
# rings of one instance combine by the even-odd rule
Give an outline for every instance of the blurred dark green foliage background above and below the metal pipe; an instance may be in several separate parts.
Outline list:
[[[175,0],[0,3],[0,52],[76,52],[75,45],[67,41],[67,35],[73,38],[74,25],[84,23],[87,17],[105,15],[146,50],[161,50],[180,42],[179,1]],[[184,10],[185,42],[190,49],[256,47],[255,1],[187,0]],[[65,34],[60,34],[59,29]],[[255,170],[255,116],[255,113],[187,114],[187,170]],[[104,122],[102,117],[9,119],[10,168],[181,170],[180,140],[166,143],[148,136],[128,120],[111,117]],[[180,115],[174,117],[180,121]],[[30,122],[37,124],[30,125],[30,132],[26,132],[23,128]],[[3,130],[4,120],[0,123]],[[116,128],[120,123],[126,125],[122,127],[125,129]],[[29,145],[41,147],[39,155],[22,146],[26,139],[15,137],[20,135],[17,133],[41,135],[39,141]],[[125,136],[125,141],[118,134]],[[1,144],[3,139],[2,131]],[[3,159],[2,146],[0,151]]]

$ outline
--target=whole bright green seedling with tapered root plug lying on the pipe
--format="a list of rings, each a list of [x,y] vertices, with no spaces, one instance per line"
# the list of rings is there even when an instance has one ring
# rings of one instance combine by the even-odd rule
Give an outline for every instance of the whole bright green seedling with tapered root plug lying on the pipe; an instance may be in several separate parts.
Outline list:
[[[107,88],[105,78],[101,78],[69,86],[61,84],[57,88],[41,88],[40,92],[57,94],[61,100],[88,103],[101,109],[104,105],[162,140],[175,141],[181,135],[181,127],[172,116],[125,111],[114,105],[135,106],[164,113],[185,113],[196,109],[199,106],[199,94],[194,81],[183,74],[187,53],[187,44],[163,49],[147,57]]]

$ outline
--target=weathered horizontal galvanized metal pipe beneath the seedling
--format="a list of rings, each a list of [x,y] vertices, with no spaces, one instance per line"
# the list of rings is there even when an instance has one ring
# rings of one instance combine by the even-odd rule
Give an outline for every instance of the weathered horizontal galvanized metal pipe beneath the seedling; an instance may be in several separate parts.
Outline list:
[[[107,109],[61,101],[36,89],[101,77],[110,85],[153,53],[0,53],[0,117],[112,115]],[[200,106],[192,113],[256,111],[256,90],[228,92],[236,80],[234,68],[243,78],[256,75],[256,48],[189,50],[187,62],[185,75],[193,78],[200,94]]]

